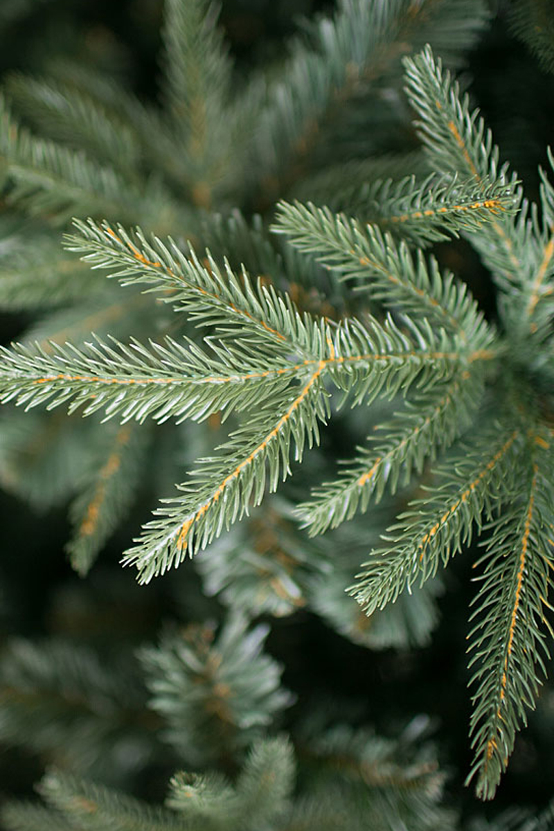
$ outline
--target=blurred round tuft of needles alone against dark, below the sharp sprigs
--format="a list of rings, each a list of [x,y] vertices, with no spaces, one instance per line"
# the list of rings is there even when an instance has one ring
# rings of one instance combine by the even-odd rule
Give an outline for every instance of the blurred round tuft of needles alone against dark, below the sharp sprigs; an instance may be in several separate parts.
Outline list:
[[[141,653],[151,706],[169,724],[166,738],[195,764],[249,744],[292,703],[279,686],[281,668],[262,654],[267,627],[247,630],[248,619],[235,615],[216,640],[213,625],[193,626]]]

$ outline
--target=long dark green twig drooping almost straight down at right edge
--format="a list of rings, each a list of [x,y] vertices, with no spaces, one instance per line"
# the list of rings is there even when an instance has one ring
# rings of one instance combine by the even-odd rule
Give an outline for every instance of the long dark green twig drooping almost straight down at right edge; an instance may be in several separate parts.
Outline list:
[[[527,470],[518,471],[526,481],[525,497],[522,493],[493,521],[487,553],[475,563],[485,568],[468,636],[469,666],[476,667],[471,683],[477,686],[471,717],[475,760],[468,780],[478,777],[483,799],[493,798],[517,730],[527,723],[526,709],[534,708],[549,658],[552,627],[545,621],[545,606],[554,568],[549,539],[554,502],[548,481],[552,449],[531,430],[529,441]]]

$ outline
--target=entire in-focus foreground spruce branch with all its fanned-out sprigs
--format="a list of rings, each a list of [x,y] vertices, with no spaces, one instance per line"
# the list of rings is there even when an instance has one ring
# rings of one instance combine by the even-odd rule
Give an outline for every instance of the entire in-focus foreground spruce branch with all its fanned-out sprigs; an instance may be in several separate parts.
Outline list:
[[[218,452],[199,461],[125,553],[143,583],[207,546],[277,489],[336,406],[404,399],[386,438],[360,450],[346,475],[316,489],[301,513],[315,531],[334,527],[448,450],[424,499],[397,517],[351,591],[367,612],[380,610],[433,578],[487,525],[470,647],[477,667],[470,775],[478,776],[478,794],[490,798],[544,668],[554,525],[554,248],[536,209],[524,206],[516,217],[523,204],[517,180],[498,165],[483,121],[430,49],[406,67],[426,151],[443,175],[438,185],[416,189],[413,201],[406,184],[392,192],[387,212],[411,214],[406,239],[403,222],[399,242],[375,224],[314,205],[281,203],[277,214],[276,229],[303,254],[316,253],[360,288],[356,315],[329,320],[302,312],[290,295],[219,256],[90,219],[76,224],[68,247],[123,285],[156,293],[196,324],[199,337],[148,347],[13,347],[2,353],[0,391],[27,407],[83,405],[85,414],[101,409],[123,421],[201,420],[218,411],[232,419]],[[375,193],[391,193],[379,187]],[[546,178],[542,194],[548,221]],[[414,253],[414,241],[447,232],[467,235],[484,252],[503,293],[498,328],[433,257]],[[536,357],[524,376],[530,350]]]

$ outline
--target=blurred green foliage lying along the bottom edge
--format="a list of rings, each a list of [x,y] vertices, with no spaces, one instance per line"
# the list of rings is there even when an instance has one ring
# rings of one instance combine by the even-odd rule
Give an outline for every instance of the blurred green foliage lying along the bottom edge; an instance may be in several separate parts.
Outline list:
[[[372,734],[360,735],[364,751],[344,730],[330,735],[312,751],[316,765],[332,775],[326,791],[305,787],[292,799],[295,758],[285,739],[259,740],[252,745],[243,769],[231,783],[221,774],[179,772],[169,785],[167,808],[154,808],[114,790],[52,772],[40,793],[47,807],[8,803],[2,819],[8,831],[19,829],[136,829],[136,831],[307,831],[326,829],[414,831],[453,829],[454,817],[439,806],[441,779],[429,761],[414,760],[403,770],[395,743]],[[337,774],[337,763],[339,773]]]

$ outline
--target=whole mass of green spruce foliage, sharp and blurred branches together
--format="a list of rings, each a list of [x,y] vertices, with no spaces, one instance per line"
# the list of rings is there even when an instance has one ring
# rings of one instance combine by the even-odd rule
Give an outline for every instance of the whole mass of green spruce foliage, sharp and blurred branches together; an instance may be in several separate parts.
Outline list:
[[[542,171],[540,204],[524,199],[424,47],[455,66],[487,17],[478,0],[344,0],[245,81],[217,9],[167,0],[161,106],[82,67],[7,80],[0,306],[47,312],[0,347],[2,482],[42,509],[72,500],[82,575],[150,471],[155,490],[194,465],[123,562],[179,580],[207,549],[205,593],[228,607],[217,635],[204,616],[140,650],[150,719],[132,672],[117,686],[93,652],[7,648],[3,738],[60,769],[46,807],[7,805],[7,829],[453,829],[442,774],[405,736],[264,737],[293,696],[251,622],[306,608],[365,647],[424,646],[439,567],[481,532],[468,781],[495,793],[552,633],[554,188]],[[90,218],[63,253],[74,215]],[[494,322],[426,251],[458,236],[493,277]],[[57,407],[69,417],[38,409]],[[334,479],[316,450],[333,430],[353,456]],[[106,750],[121,722],[128,744]],[[133,747],[159,760],[158,736],[201,769],[174,775],[165,808],[75,778],[106,764],[109,780]]]

